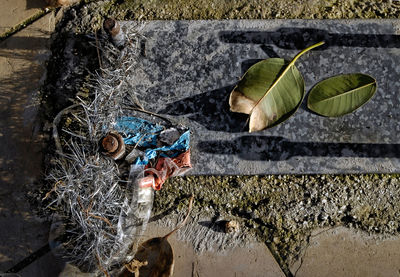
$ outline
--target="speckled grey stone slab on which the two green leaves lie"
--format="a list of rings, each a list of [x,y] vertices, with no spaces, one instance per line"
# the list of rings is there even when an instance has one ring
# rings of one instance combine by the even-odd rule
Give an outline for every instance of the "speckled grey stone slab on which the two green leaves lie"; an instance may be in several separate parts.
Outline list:
[[[192,174],[400,172],[399,20],[152,21],[140,33],[131,88],[147,110],[192,129]],[[340,118],[303,105],[275,128],[243,132],[247,117],[228,106],[242,74],[321,40],[325,47],[297,63],[307,91],[327,77],[363,72],[377,79],[373,99]]]

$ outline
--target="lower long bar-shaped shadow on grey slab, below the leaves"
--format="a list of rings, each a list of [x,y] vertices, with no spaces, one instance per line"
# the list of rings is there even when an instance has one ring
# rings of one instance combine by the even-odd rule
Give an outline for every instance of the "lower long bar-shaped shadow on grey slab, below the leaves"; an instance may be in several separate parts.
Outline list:
[[[197,147],[201,152],[237,155],[249,161],[281,161],[296,156],[400,158],[400,144],[292,142],[274,136],[200,141]]]

